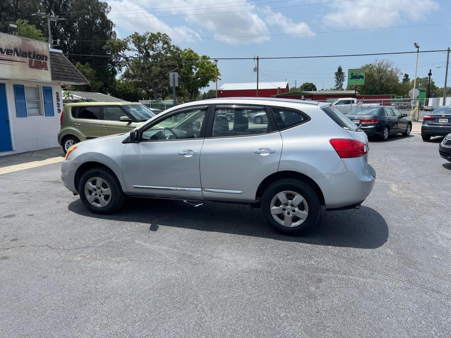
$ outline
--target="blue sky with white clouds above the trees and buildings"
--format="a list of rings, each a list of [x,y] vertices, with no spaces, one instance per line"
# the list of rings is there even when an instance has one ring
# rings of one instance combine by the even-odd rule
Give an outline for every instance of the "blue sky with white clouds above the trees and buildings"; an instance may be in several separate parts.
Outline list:
[[[106,0],[119,38],[165,32],[181,48],[214,58],[445,50],[451,46],[450,0]],[[415,54],[260,60],[260,82],[334,86],[339,65],[389,59],[410,78]],[[419,55],[418,76],[432,69],[443,87],[446,52]],[[219,60],[222,83],[255,82],[254,60]],[[449,86],[449,82],[448,82]],[[210,87],[214,88],[214,83]],[[205,89],[204,89],[205,91]]]

